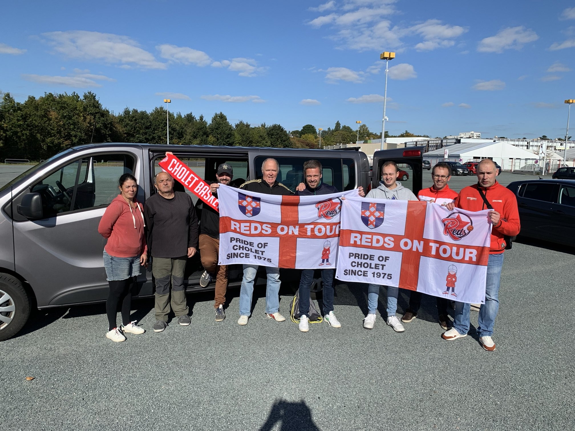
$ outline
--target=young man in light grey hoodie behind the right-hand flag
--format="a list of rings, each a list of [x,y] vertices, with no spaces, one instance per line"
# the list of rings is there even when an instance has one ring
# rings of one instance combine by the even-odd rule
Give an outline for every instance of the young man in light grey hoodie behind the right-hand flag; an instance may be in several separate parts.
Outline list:
[[[405,188],[397,181],[399,168],[394,161],[388,160],[381,167],[379,186],[369,191],[366,198],[395,199],[399,201],[417,201],[416,195],[409,188]],[[363,328],[373,329],[375,324],[375,311],[377,311],[377,299],[379,297],[379,284],[369,284],[367,287],[367,316],[363,319]],[[388,316],[386,323],[396,332],[404,332],[405,328],[396,316],[398,287],[388,288]]]

